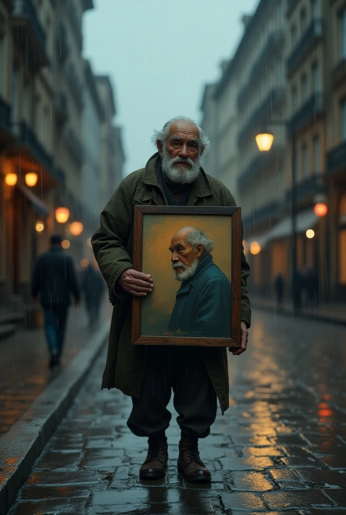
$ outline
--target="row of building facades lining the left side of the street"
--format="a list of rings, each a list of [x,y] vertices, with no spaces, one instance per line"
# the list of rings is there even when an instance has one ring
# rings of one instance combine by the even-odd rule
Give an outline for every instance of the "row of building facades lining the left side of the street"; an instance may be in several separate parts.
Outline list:
[[[109,106],[82,58],[83,13],[92,8],[92,0],[0,0],[2,306],[29,300],[33,264],[53,232],[80,267],[99,224],[101,183],[109,191],[118,174],[111,164],[124,160],[121,140],[111,158],[102,156]],[[110,162],[107,179],[102,159]],[[65,223],[56,219],[59,207],[70,211]],[[72,234],[73,221],[81,234]]]

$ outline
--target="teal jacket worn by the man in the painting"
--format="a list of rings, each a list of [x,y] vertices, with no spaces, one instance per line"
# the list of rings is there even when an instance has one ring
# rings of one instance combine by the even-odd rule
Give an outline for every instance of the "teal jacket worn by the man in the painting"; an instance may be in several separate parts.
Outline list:
[[[196,273],[181,283],[168,331],[175,336],[231,337],[231,283],[206,254]]]

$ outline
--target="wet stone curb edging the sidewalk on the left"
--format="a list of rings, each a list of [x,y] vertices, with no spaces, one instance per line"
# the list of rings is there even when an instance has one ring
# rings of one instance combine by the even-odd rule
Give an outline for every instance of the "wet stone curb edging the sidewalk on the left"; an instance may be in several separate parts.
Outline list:
[[[95,358],[106,344],[109,326],[101,328],[76,359],[52,381],[30,408],[0,438],[0,513],[5,515],[44,445],[71,406]]]

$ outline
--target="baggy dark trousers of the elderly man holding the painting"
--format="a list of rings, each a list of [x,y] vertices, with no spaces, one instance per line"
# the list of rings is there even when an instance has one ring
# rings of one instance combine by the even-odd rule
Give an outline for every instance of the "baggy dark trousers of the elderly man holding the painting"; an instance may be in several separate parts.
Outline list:
[[[198,347],[147,346],[140,398],[132,398],[127,421],[137,436],[156,436],[170,422],[171,389],[183,433],[204,438],[215,421],[217,397]]]

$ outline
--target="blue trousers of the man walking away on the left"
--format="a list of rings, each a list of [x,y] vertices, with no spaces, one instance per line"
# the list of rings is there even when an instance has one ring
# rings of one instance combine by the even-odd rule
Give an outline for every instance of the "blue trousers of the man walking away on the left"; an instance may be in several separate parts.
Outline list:
[[[60,357],[64,345],[68,306],[43,306],[43,310],[44,329],[49,352]]]

